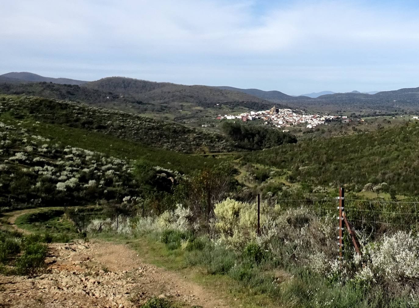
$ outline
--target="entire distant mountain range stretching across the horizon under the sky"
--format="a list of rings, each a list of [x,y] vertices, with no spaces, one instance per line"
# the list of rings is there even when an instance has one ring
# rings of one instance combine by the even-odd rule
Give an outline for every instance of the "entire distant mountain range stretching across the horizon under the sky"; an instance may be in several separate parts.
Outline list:
[[[220,113],[225,113],[243,108],[266,110],[273,104],[316,112],[419,111],[419,88],[367,93],[323,91],[290,96],[280,91],[253,88],[180,85],[124,77],[108,77],[88,82],[43,77],[29,72],[12,72],[0,75],[0,93],[80,101],[152,114],[162,112],[175,117],[181,114],[181,118],[185,118],[186,114],[205,116],[199,108],[216,108],[220,109]],[[211,111],[207,115],[214,112],[217,111]]]

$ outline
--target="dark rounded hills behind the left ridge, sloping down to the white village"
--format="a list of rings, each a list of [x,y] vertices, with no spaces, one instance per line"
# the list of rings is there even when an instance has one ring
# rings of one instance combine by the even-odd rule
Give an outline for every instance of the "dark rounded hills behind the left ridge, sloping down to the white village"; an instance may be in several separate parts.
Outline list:
[[[0,75],[0,93],[79,101],[125,111],[171,114],[188,108],[192,113],[199,113],[198,107],[224,108],[222,112],[228,112],[236,108],[263,110],[273,105],[264,98],[206,85],[179,85],[125,77],[88,82],[48,78],[29,72]]]

